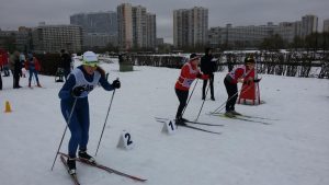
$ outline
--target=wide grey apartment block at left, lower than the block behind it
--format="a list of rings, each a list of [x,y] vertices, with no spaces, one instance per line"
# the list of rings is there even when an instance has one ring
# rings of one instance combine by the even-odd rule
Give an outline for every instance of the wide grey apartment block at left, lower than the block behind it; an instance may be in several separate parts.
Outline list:
[[[66,49],[79,53],[82,49],[82,28],[78,25],[42,25],[32,31],[35,53],[58,53]]]

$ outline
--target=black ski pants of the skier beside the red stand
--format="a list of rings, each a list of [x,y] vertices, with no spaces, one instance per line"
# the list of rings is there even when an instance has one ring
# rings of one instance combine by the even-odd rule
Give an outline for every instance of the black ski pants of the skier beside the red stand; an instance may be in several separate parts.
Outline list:
[[[235,105],[238,99],[238,84],[230,83],[227,78],[224,79],[224,84],[226,88],[226,92],[228,95],[227,102],[226,102],[226,112],[235,111]]]

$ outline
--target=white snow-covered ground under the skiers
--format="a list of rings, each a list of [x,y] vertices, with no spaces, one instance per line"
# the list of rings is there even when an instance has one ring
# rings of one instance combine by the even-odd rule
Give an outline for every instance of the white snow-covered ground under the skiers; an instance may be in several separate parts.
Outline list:
[[[158,117],[173,117],[178,100],[173,85],[179,70],[134,67],[118,72],[117,62],[102,65],[110,80],[120,78],[98,162],[145,177],[134,182],[78,163],[81,184],[148,185],[328,185],[329,184],[329,81],[319,79],[262,76],[259,106],[237,105],[246,115],[261,116],[272,125],[206,115],[223,104],[225,72],[215,73],[216,101],[207,100],[200,122],[224,124],[202,128],[212,135],[178,128],[174,135],[161,132]],[[2,78],[0,91],[0,184],[70,185],[60,160],[50,171],[66,123],[57,93],[63,83],[41,76],[45,88],[12,89],[12,77]],[[198,81],[184,117],[194,119],[202,104]],[[90,141],[94,153],[113,92],[101,88],[89,95]],[[9,101],[12,113],[3,113]],[[123,130],[129,131],[134,149],[116,148]],[[67,152],[69,132],[60,151]]]

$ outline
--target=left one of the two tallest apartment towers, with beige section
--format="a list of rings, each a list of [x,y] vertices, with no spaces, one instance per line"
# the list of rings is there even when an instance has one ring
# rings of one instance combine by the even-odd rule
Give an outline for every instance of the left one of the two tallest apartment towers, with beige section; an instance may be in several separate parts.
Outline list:
[[[122,49],[147,48],[156,45],[156,15],[141,5],[123,3],[117,7],[118,45]]]

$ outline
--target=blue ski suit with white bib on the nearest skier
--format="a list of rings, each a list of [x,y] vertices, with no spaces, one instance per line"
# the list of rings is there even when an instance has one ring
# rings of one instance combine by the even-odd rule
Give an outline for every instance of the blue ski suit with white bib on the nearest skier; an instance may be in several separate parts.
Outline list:
[[[70,158],[76,158],[78,146],[79,150],[87,150],[90,125],[88,94],[99,83],[106,91],[114,90],[114,86],[110,84],[105,77],[98,70],[95,70],[93,74],[89,74],[83,69],[83,66],[79,66],[69,74],[68,80],[58,93],[61,114],[66,122],[69,119],[75,99],[77,99],[76,107],[68,126],[71,131],[71,138],[68,144],[68,154]],[[86,88],[86,91],[79,97],[73,97],[71,95],[72,89],[81,85]]]

